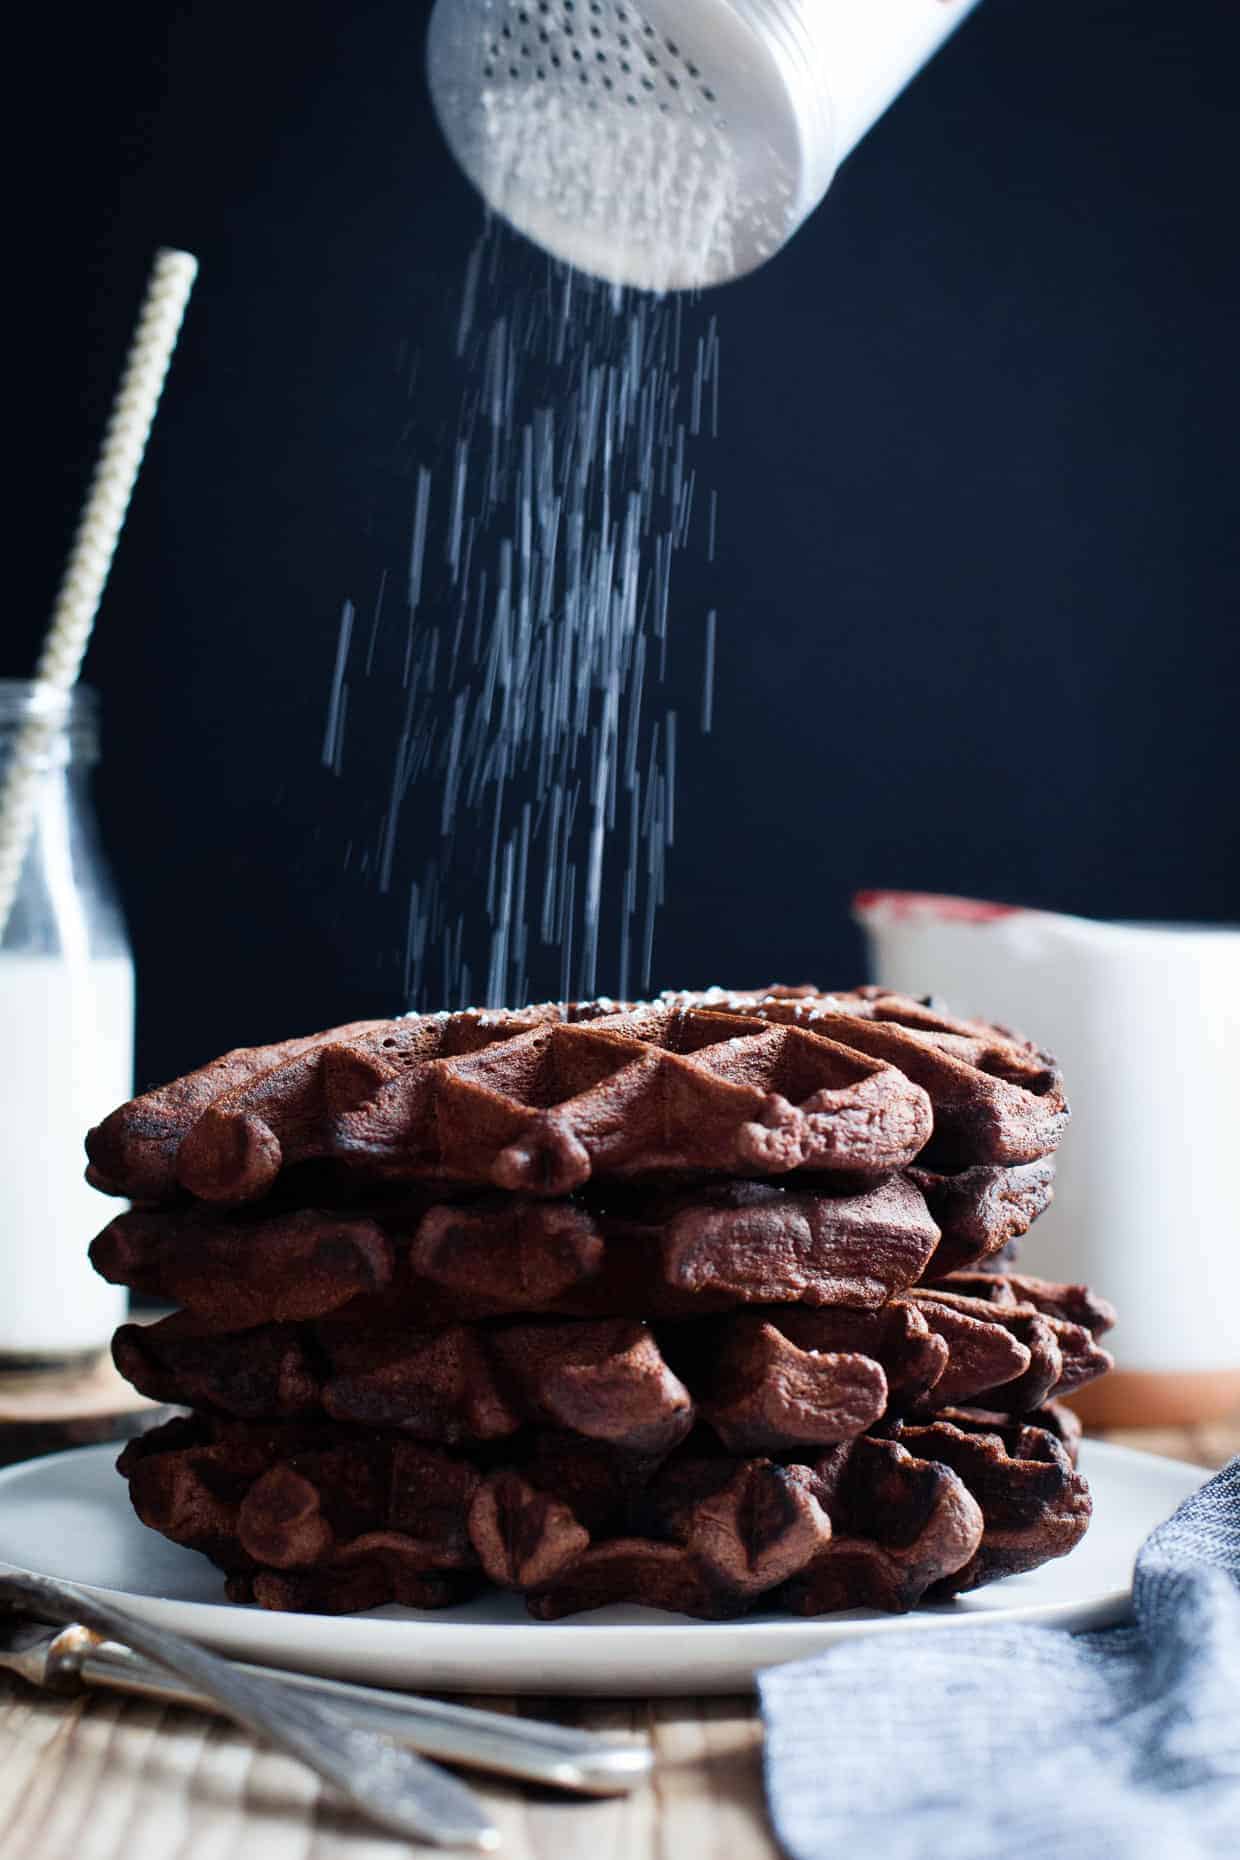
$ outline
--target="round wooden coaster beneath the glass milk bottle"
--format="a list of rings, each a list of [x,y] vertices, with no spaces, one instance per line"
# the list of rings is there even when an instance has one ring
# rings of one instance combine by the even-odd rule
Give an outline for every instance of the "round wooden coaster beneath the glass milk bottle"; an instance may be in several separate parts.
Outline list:
[[[171,1414],[132,1389],[106,1350],[71,1369],[0,1375],[0,1466],[61,1447],[132,1440]]]

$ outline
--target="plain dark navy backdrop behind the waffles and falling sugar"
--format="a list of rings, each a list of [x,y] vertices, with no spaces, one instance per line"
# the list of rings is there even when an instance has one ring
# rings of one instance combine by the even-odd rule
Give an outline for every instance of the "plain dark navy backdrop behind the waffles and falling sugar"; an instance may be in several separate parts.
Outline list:
[[[9,41],[7,673],[151,251],[203,260],[89,658],[143,1081],[402,1004],[402,911],[344,869],[381,798],[318,751],[409,422],[459,400],[480,214],[424,15],[46,9]],[[658,984],[851,982],[857,885],[1240,917],[1238,54],[1229,0],[983,0],[712,299],[721,562],[680,569],[677,625],[719,603],[718,724],[682,740]]]

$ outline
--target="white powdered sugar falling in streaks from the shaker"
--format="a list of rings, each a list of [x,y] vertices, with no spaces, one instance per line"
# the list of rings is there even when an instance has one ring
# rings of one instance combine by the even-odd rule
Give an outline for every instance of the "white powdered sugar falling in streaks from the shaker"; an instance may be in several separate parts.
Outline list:
[[[718,435],[718,320],[534,260],[489,221],[454,346],[455,432],[413,461],[364,655],[351,601],[340,616],[323,763],[342,774],[359,684],[368,712],[398,696],[359,863],[403,889],[411,1004],[623,999],[651,984],[677,828],[673,571],[697,530],[714,556],[695,456]],[[679,632],[705,660],[679,701],[710,729],[714,612]]]

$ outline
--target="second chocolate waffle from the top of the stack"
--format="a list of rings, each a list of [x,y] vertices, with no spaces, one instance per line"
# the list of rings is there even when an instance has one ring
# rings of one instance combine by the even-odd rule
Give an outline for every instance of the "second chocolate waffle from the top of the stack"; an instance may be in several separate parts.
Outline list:
[[[1052,1164],[959,1177],[731,1181],[532,1202],[435,1189],[351,1207],[134,1209],[93,1242],[104,1278],[229,1330],[383,1295],[413,1324],[545,1311],[677,1317],[736,1304],[883,1304],[944,1259],[1002,1259]],[[930,1203],[930,1207],[928,1207]]]

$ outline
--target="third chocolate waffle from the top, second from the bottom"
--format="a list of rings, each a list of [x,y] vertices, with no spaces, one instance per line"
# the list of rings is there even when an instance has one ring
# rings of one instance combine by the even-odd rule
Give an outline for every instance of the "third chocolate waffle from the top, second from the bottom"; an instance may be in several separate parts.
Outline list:
[[[413,1330],[377,1304],[219,1332],[178,1313],[123,1326],[113,1356],[143,1395],[238,1419],[325,1417],[454,1447],[537,1427],[649,1455],[699,1417],[731,1453],[785,1453],[851,1440],[887,1414],[967,1402],[1019,1414],[1108,1367],[1089,1330],[1054,1315],[1071,1287],[1022,1280],[1017,1298],[1009,1282],[993,1285],[989,1300],[948,1282],[877,1309],[759,1306],[654,1326]]]

